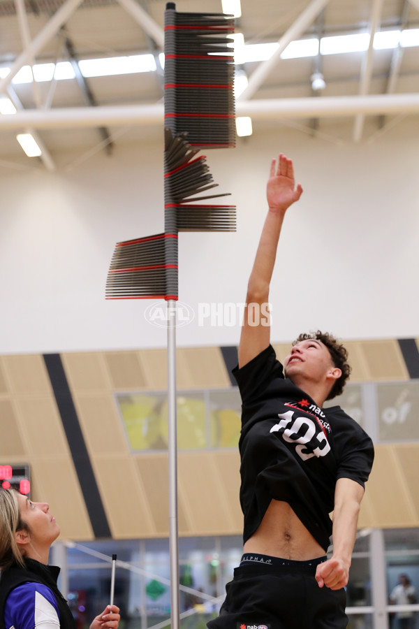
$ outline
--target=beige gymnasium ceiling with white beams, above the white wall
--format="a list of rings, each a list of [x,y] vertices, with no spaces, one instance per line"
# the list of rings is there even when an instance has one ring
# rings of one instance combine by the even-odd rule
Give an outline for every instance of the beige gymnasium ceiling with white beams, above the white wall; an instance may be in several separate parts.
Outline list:
[[[27,63],[22,52],[28,53],[29,63],[45,63],[68,60],[70,47],[74,59],[79,60],[142,52],[158,55],[162,50],[165,1],[84,0],[77,6],[77,0],[66,0],[66,3],[61,0],[26,0],[24,13],[19,17],[23,1],[0,1],[0,67],[13,66],[19,60],[20,65]],[[321,6],[324,6],[323,10],[320,10]],[[221,0],[179,0],[176,8],[186,12],[219,13]],[[68,15],[61,20],[63,26],[52,29],[50,20],[58,21],[59,12],[65,10]],[[302,25],[300,29],[299,24]],[[242,0],[242,17],[237,20],[237,31],[244,34],[246,43],[284,43],[284,36],[286,38],[288,34],[294,34],[298,39],[413,28],[419,28],[418,0]],[[27,39],[22,43],[25,29]],[[45,36],[47,29],[52,31],[49,38]],[[38,45],[42,38],[44,45]],[[30,55],[34,49],[36,54]],[[360,111],[374,114],[373,124],[372,118],[368,119],[369,133],[371,124],[373,131],[379,131],[397,120],[395,117],[419,114],[417,46],[277,59],[264,65],[244,64],[243,69],[253,87],[251,94],[245,94],[242,102],[237,103],[237,113],[251,113],[256,130],[281,117],[309,133],[333,134],[339,120],[339,124],[346,122],[346,133],[358,142],[365,137]],[[311,89],[311,75],[316,71],[323,73],[325,78],[325,89],[320,93]],[[260,80],[256,78],[258,73],[263,76]],[[87,101],[86,87],[81,87],[75,79],[36,84],[38,110],[45,110],[46,104],[43,113],[35,112],[34,85],[3,85],[3,94],[22,103],[22,113],[15,117],[0,117],[0,164],[18,167],[27,163],[29,158],[24,156],[15,140],[20,124],[22,129],[28,126],[38,133],[45,149],[43,164],[38,162],[38,166],[50,169],[55,168],[54,152],[57,151],[105,150],[106,138],[112,138],[115,145],[126,140],[161,138],[161,71],[88,78],[85,83],[91,100],[94,99],[98,106],[90,122],[86,122],[86,116],[93,112],[87,112],[91,105]],[[0,89],[1,85],[0,80]],[[407,94],[410,94],[410,101]],[[379,99],[357,99],[358,96],[372,95],[378,95]],[[160,103],[159,106],[156,103]],[[263,111],[268,105],[269,114]],[[121,106],[131,108],[121,113]],[[141,106],[151,107],[147,110]],[[80,108],[77,111],[84,122],[75,122],[75,108]],[[298,113],[300,108],[301,113]],[[61,122],[53,123],[58,109],[61,110]],[[357,112],[358,117],[355,116]]]

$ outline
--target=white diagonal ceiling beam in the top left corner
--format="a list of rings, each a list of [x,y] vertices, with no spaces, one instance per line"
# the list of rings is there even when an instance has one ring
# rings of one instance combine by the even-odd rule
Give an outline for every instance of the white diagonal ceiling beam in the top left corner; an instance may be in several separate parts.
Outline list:
[[[20,69],[25,65],[30,63],[29,57],[36,57],[38,52],[43,49],[45,45],[57,34],[61,26],[68,20],[68,17],[78,6],[82,3],[82,0],[66,0],[66,2],[60,6],[60,8],[54,13],[54,15],[50,18],[50,20],[45,24],[43,29],[38,33],[38,35],[32,40],[31,45],[29,46],[29,50],[24,50],[21,52],[19,57],[15,59],[13,62],[10,72],[7,76],[0,79],[0,94],[2,94],[8,85],[12,82],[13,78]]]

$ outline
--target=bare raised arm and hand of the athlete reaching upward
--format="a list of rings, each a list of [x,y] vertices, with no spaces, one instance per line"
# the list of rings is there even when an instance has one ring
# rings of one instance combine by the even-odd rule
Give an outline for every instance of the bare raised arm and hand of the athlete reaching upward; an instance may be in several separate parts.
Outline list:
[[[270,281],[285,212],[302,194],[300,184],[295,188],[293,162],[282,153],[278,161],[272,159],[266,194],[269,210],[247,287],[246,308],[240,335],[239,367],[249,363],[270,344],[270,321],[262,313],[267,311],[264,304],[269,301]],[[256,305],[249,308],[250,304]]]

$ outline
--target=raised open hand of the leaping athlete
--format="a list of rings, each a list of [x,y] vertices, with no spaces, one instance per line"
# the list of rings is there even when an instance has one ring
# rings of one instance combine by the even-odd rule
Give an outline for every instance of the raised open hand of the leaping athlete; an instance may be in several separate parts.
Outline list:
[[[283,153],[279,154],[278,164],[276,159],[271,162],[270,178],[266,187],[267,205],[270,210],[285,212],[301,195],[301,184],[295,188],[292,159],[287,159]]]

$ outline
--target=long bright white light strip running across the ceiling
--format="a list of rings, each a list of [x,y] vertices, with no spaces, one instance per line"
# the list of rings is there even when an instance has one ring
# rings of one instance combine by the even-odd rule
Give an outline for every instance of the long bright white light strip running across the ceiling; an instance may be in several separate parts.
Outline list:
[[[263,62],[270,59],[278,50],[277,42],[247,44],[242,43],[242,34],[235,36],[235,64]],[[419,46],[419,29],[405,29],[404,31],[380,31],[374,36],[375,50],[389,50],[397,48],[411,48]],[[315,57],[321,55],[339,55],[344,52],[364,52],[369,46],[369,34],[351,34],[328,36],[321,38],[320,44],[317,38],[299,39],[288,44],[281,55],[281,59],[298,59],[302,57]],[[164,54],[160,53],[159,59],[164,68]],[[102,59],[82,59],[79,62],[80,71],[86,78],[95,76],[111,76],[134,74],[156,71],[156,62],[153,55],[131,55],[129,57],[105,57]],[[57,64],[35,64],[35,80],[38,82],[57,81],[75,78],[70,62]],[[10,68],[0,68],[0,79],[5,78]],[[12,81],[14,84],[31,83],[32,72],[30,66],[23,66]]]

